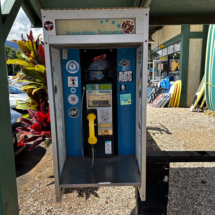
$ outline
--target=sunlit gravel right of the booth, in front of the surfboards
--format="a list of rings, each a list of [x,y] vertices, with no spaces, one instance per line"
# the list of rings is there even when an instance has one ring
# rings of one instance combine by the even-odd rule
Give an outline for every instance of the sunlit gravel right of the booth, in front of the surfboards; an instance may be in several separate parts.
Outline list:
[[[147,150],[215,151],[214,117],[189,108],[147,108]]]

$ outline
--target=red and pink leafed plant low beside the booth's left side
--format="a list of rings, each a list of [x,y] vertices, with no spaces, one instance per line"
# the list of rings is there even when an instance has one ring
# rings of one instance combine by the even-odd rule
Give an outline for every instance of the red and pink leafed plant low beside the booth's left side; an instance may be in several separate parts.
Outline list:
[[[22,133],[20,137],[29,134],[32,136],[19,141],[18,146],[33,142],[32,146],[28,148],[28,150],[31,150],[41,143],[43,143],[46,148],[51,145],[50,112],[49,109],[47,110],[44,108],[44,104],[45,102],[41,104],[41,111],[37,111],[37,113],[30,109],[26,109],[29,112],[31,119],[20,117],[20,121],[26,125],[26,127],[16,128]]]

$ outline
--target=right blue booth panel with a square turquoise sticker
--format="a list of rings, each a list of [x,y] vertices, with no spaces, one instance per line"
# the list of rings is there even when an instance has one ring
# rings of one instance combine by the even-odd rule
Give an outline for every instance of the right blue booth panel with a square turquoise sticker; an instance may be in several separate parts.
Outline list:
[[[132,80],[119,82],[119,73],[132,73]],[[117,93],[118,93],[118,154],[135,154],[135,82],[136,82],[136,49],[117,49]],[[125,85],[125,91],[120,91]]]

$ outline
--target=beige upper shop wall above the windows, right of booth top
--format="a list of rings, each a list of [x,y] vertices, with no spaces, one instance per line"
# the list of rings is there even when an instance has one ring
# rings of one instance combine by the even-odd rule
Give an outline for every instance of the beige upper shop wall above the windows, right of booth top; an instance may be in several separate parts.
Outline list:
[[[155,43],[151,44],[151,49],[154,49],[179,34],[181,34],[181,25],[163,26],[161,30],[156,31],[152,35],[152,39]]]

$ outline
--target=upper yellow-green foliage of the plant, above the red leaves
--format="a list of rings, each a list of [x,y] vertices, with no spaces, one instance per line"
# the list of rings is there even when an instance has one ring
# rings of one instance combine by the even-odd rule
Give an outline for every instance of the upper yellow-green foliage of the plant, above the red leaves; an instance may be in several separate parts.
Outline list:
[[[19,65],[22,73],[18,76],[16,82],[27,82],[21,90],[25,91],[29,99],[26,101],[18,100],[17,109],[40,110],[40,104],[48,99],[45,52],[44,43],[40,39],[40,35],[36,40],[33,38],[32,31],[28,35],[28,41],[21,36],[22,40],[12,40],[16,42],[22,53],[22,59],[8,59],[7,64]],[[15,83],[16,83],[15,82]],[[29,118],[29,114],[24,117]]]

